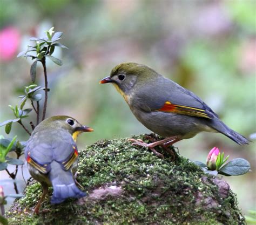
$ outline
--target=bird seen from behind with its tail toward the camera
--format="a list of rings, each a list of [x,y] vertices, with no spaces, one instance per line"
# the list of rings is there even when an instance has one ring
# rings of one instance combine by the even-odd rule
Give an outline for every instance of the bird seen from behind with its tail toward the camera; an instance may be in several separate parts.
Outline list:
[[[86,195],[76,186],[73,174],[78,165],[77,136],[91,131],[92,128],[82,126],[66,115],[45,119],[33,130],[25,147],[25,158],[32,178],[43,187],[34,213],[39,212],[49,186],[53,187],[52,204],[61,203],[68,197]]]

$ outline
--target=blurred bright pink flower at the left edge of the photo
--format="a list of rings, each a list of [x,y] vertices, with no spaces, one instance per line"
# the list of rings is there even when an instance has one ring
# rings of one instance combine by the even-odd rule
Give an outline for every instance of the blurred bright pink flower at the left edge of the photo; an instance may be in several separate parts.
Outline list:
[[[8,61],[16,56],[21,35],[14,26],[8,26],[0,31],[0,60]]]

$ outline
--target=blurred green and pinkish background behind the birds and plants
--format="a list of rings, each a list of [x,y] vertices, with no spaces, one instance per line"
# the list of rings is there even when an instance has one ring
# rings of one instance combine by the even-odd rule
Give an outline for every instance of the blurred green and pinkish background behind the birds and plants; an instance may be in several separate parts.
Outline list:
[[[64,32],[61,43],[69,50],[55,53],[63,66],[46,63],[51,89],[47,116],[71,115],[93,127],[95,132],[78,138],[80,148],[99,139],[150,132],[112,85],[99,84],[121,62],[149,65],[196,93],[228,126],[249,137],[256,132],[255,5],[254,0],[0,0],[0,121],[13,118],[8,105],[16,105],[31,82],[31,60],[16,58],[17,53],[26,49],[29,37],[55,26]],[[39,64],[37,72],[36,83],[43,86]],[[18,124],[9,135],[1,127],[0,134],[29,138]],[[238,146],[224,135],[201,133],[175,146],[191,160],[205,162],[217,146],[230,159],[250,161],[251,173],[224,179],[244,213],[256,209],[255,141]],[[29,178],[26,168],[24,173]],[[0,175],[5,194],[14,193],[8,175]],[[21,174],[18,185],[22,191]]]

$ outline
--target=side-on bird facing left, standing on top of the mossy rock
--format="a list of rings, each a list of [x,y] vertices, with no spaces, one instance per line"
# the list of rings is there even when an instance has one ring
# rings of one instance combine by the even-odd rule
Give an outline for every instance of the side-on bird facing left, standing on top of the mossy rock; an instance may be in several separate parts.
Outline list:
[[[134,145],[149,147],[157,154],[155,146],[171,145],[201,131],[219,132],[239,145],[248,144],[245,137],[227,127],[196,94],[148,66],[121,63],[100,81],[105,83],[116,87],[145,127],[165,138],[151,144],[130,139]]]

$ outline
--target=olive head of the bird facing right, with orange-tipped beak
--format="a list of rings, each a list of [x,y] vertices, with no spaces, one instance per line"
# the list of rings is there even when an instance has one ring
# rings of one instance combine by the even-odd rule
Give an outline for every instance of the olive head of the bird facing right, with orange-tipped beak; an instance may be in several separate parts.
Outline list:
[[[41,131],[43,129],[55,129],[56,131],[65,130],[68,131],[74,140],[82,132],[91,132],[92,128],[81,125],[76,119],[66,115],[56,115],[42,121],[36,126],[34,132]]]

